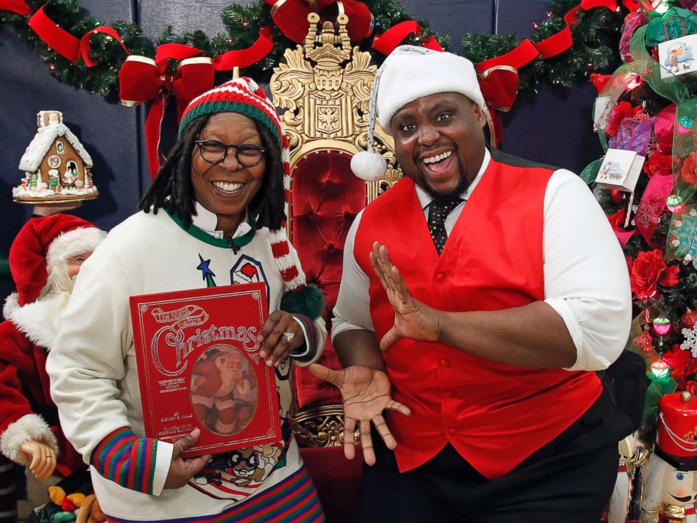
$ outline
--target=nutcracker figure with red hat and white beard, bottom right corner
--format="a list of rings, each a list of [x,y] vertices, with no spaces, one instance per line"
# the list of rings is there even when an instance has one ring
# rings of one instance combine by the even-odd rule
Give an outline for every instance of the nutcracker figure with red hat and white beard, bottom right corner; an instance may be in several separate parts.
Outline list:
[[[686,391],[663,396],[657,427],[641,522],[697,523],[697,397]]]

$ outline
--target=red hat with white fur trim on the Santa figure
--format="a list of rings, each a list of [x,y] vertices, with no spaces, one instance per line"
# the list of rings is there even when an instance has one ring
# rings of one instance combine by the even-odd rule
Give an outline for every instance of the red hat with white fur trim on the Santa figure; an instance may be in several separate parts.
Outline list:
[[[67,260],[92,252],[105,233],[82,218],[52,214],[32,218],[20,229],[10,247],[10,271],[19,306],[35,302],[48,277]]]

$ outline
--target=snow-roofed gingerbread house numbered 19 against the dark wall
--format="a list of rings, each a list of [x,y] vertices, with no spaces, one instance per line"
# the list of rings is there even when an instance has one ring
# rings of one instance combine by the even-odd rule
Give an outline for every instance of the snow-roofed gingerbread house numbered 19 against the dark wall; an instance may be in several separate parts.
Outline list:
[[[25,176],[13,188],[13,200],[37,204],[97,198],[92,158],[63,123],[63,114],[41,111],[37,126],[39,130],[20,160],[19,169]]]

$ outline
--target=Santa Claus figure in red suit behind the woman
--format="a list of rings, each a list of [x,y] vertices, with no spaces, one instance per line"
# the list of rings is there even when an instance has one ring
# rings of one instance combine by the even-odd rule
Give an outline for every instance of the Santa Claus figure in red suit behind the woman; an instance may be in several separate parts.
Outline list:
[[[84,466],[58,427],[46,354],[73,278],[104,236],[88,221],[53,214],[27,221],[10,247],[17,292],[6,299],[0,323],[0,451],[38,479]]]

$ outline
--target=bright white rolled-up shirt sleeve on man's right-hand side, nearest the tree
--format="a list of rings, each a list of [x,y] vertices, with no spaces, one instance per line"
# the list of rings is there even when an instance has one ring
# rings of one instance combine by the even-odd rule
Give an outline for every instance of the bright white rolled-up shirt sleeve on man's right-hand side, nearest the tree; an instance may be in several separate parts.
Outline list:
[[[617,237],[585,183],[560,169],[547,184],[543,233],[545,302],[576,347],[566,370],[602,370],[625,347],[632,295]]]

